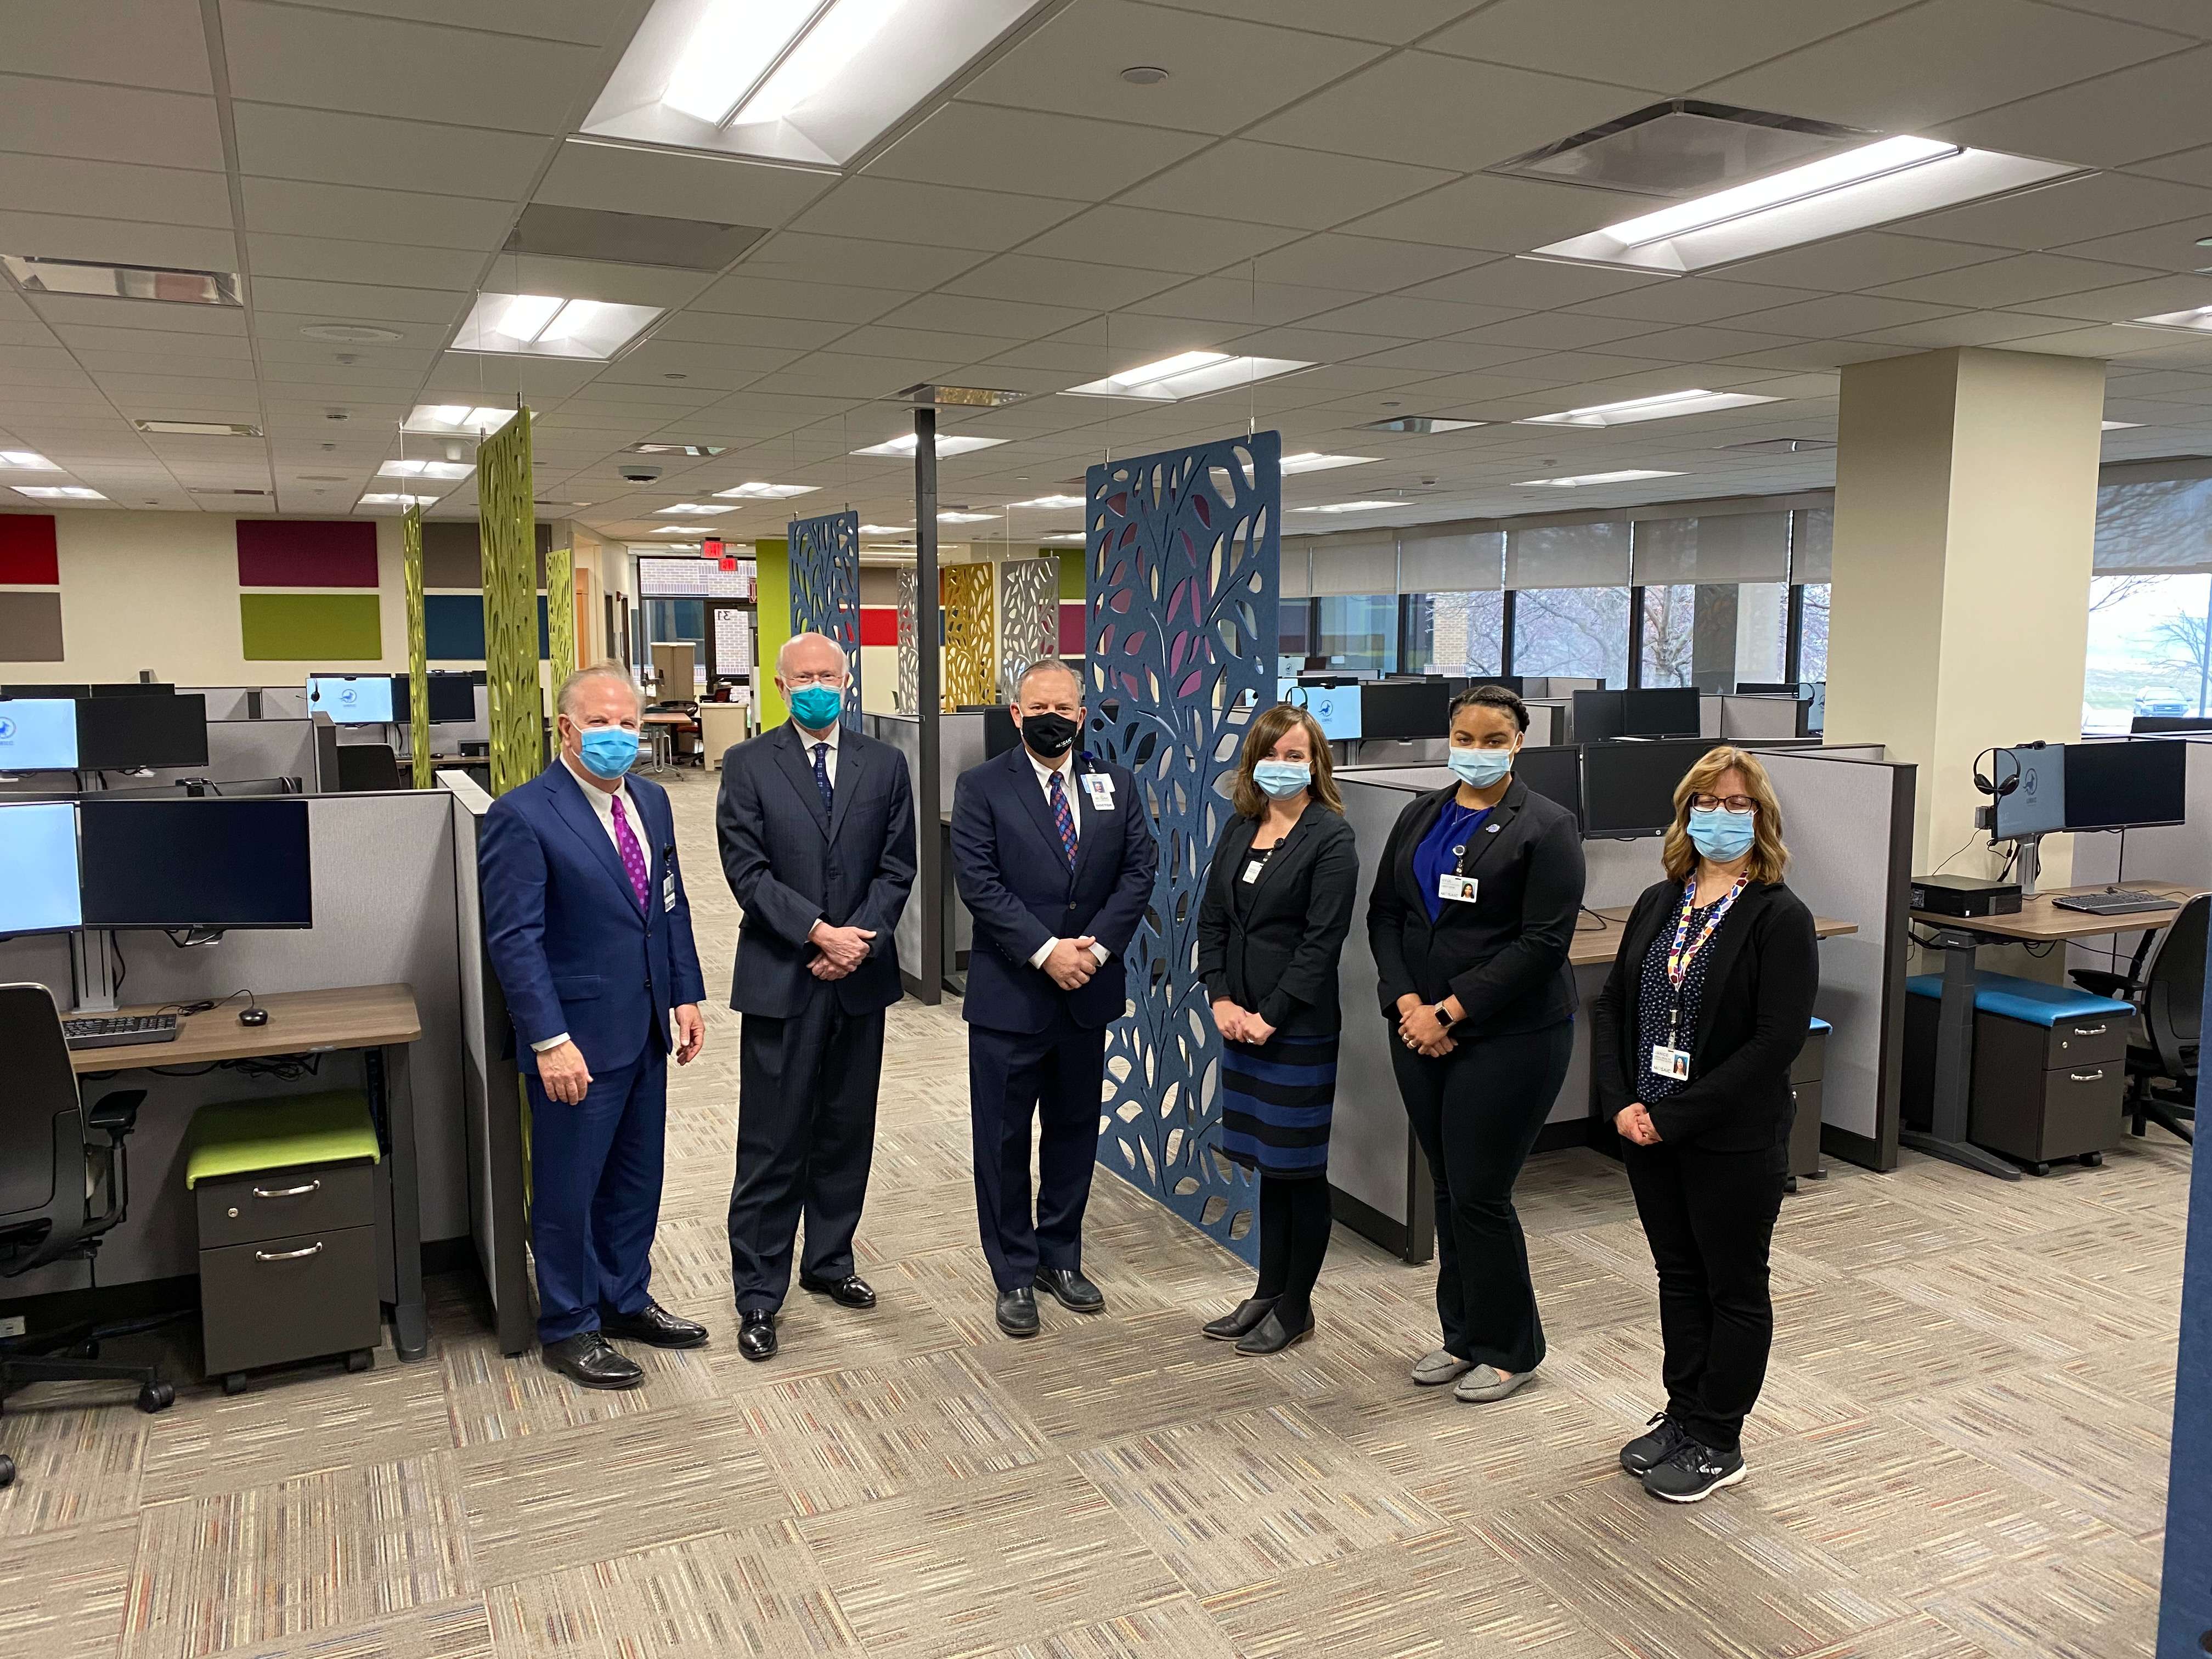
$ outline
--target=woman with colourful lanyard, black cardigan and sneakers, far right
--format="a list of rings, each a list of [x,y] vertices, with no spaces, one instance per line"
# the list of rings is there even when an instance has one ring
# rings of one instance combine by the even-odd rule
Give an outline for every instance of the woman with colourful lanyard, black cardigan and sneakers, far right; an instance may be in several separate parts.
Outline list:
[[[1666,1409],[1621,1467],[1694,1504],[1743,1480],[1739,1436],[1774,1343],[1790,1062],[1820,960],[1812,911],[1783,887],[1783,812],[1754,757],[1717,748],[1690,768],[1661,863],[1597,998],[1590,1066],[1626,1141],[1666,1338]]]

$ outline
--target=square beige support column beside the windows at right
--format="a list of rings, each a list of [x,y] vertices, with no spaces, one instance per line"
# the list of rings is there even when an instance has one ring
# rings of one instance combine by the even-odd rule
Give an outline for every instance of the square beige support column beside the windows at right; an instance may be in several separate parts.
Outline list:
[[[1920,768],[1916,872],[1986,843],[1982,750],[2081,734],[2101,414],[2088,358],[1953,347],[1843,372],[1827,741]],[[2053,841],[2044,883],[2070,867]]]

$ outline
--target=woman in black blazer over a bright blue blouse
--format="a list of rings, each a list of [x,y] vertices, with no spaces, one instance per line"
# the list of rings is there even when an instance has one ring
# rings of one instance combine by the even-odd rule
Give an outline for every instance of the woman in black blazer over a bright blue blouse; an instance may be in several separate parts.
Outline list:
[[[1544,1360],[1513,1181],[1573,1051],[1582,834],[1513,776],[1526,730],[1502,686],[1451,701],[1460,781],[1398,814],[1367,900],[1391,1066],[1436,1177],[1444,1345],[1413,1380],[1458,1378],[1460,1400],[1502,1400]]]

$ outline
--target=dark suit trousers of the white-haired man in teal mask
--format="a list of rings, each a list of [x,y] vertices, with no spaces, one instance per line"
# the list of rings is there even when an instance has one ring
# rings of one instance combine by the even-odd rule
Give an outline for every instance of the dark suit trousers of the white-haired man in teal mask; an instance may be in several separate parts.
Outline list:
[[[845,1013],[823,980],[787,1018],[748,1013],[737,1044],[737,1181],[730,1283],[739,1310],[774,1312],[792,1285],[792,1237],[807,1223],[807,1279],[852,1272],[867,1201],[883,1077],[883,1009]]]

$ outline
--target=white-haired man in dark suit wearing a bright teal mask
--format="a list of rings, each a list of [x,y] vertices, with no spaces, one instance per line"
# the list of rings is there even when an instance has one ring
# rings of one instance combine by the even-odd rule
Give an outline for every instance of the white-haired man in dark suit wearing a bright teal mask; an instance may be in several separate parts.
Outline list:
[[[843,730],[845,653],[818,633],[776,653],[790,721],[721,761],[721,869],[745,911],[730,1006],[739,1037],[730,1279],[737,1352],[776,1352],[792,1237],[799,1287],[874,1307],[852,1234],[876,1152],[883,1011],[905,995],[898,914],[914,887],[907,757]]]

